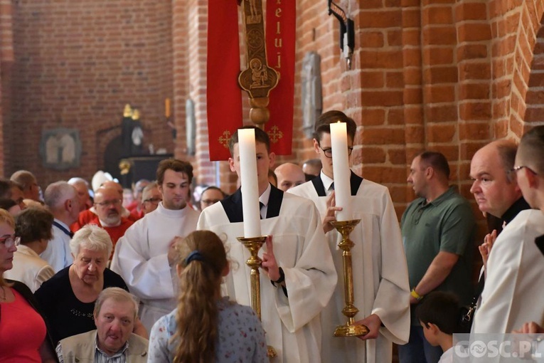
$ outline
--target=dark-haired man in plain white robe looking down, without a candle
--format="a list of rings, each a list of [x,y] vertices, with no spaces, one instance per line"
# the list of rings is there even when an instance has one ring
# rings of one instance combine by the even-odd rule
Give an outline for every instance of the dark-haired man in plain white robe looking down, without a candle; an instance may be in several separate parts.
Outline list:
[[[130,226],[115,246],[111,269],[140,299],[140,320],[148,332],[156,320],[177,305],[172,241],[196,229],[198,211],[186,203],[192,178],[193,167],[188,162],[160,162],[157,184],[163,200],[155,211]]]

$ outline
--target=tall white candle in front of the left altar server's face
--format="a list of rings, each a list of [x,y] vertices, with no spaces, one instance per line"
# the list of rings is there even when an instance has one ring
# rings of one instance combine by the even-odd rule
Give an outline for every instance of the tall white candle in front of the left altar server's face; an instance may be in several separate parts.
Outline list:
[[[238,130],[238,151],[240,152],[240,184],[242,189],[244,237],[260,237],[261,215],[259,208],[259,184],[257,182],[255,130]]]

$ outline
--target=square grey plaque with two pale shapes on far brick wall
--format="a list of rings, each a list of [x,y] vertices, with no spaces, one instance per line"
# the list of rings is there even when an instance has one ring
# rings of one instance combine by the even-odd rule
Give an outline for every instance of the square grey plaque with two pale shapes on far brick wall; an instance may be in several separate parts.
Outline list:
[[[40,154],[43,167],[66,170],[80,167],[81,140],[77,129],[42,130]]]

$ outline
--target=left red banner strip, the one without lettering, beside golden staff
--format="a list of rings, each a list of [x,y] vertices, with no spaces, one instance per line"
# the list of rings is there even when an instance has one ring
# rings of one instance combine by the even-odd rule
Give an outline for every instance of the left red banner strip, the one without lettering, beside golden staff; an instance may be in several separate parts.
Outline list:
[[[238,87],[240,45],[238,1],[208,2],[206,105],[210,160],[230,157],[230,135],[242,127],[242,93]]]

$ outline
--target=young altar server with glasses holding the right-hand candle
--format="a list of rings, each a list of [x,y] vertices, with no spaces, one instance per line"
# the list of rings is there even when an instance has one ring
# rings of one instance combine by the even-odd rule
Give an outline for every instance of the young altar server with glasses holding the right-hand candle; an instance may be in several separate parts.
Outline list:
[[[402,237],[393,202],[385,186],[362,179],[351,172],[353,218],[361,222],[351,233],[354,305],[358,324],[370,332],[362,339],[334,337],[336,326],[346,324],[341,235],[329,221],[336,221],[341,206],[334,203],[334,175],[331,152],[332,122],[346,122],[348,155],[353,149],[355,122],[343,112],[329,111],[316,122],[314,149],[323,164],[321,174],[289,189],[289,193],[311,199],[319,209],[323,229],[338,272],[338,283],[329,305],[321,312],[324,362],[391,362],[392,342],[405,344],[410,335],[410,288]],[[346,174],[349,173],[346,170]],[[349,218],[348,218],[349,219]]]

